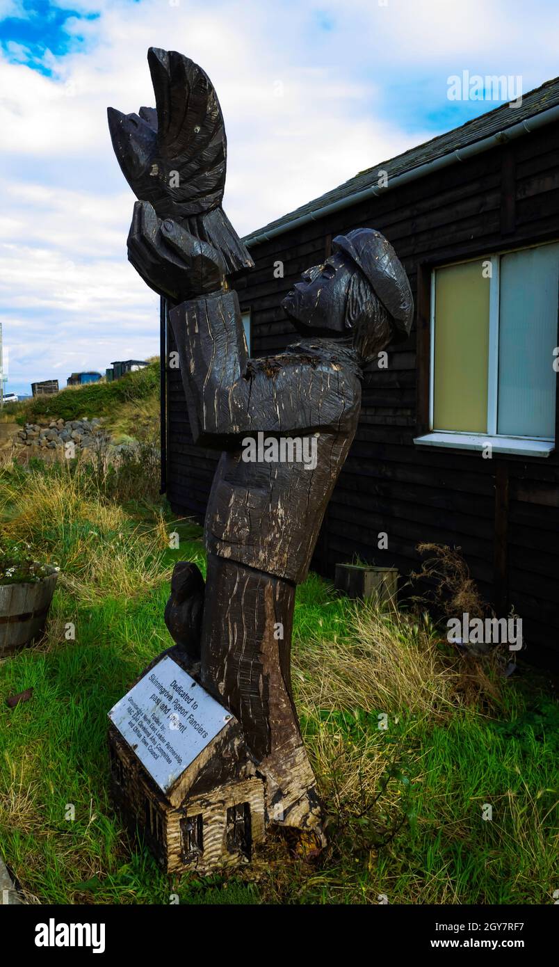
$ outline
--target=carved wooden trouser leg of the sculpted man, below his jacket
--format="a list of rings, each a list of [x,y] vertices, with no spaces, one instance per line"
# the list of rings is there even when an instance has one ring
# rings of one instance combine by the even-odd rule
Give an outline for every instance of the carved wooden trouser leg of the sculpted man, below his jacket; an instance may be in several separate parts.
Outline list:
[[[315,827],[315,779],[301,737],[290,677],[295,585],[210,554],[201,680],[243,725],[267,777],[270,819]]]

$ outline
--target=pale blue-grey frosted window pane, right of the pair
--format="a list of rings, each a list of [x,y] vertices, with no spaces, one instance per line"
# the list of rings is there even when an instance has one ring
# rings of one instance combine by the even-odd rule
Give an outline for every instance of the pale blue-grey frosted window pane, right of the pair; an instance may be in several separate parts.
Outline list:
[[[559,245],[501,257],[497,432],[554,437]]]

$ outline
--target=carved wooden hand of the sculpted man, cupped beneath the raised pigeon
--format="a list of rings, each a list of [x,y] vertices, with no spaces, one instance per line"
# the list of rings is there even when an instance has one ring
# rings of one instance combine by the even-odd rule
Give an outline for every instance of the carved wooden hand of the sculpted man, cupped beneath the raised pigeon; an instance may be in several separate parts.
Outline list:
[[[148,201],[136,201],[128,257],[150,288],[174,303],[216,292],[225,269],[218,249],[200,242],[176,221],[162,221]]]

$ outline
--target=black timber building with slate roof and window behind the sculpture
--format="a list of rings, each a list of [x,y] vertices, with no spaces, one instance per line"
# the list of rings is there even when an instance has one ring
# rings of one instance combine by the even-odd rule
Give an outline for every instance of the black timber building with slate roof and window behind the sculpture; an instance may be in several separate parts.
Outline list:
[[[499,614],[514,605],[526,658],[559,658],[559,79],[369,168],[247,239],[235,287],[254,356],[297,337],[280,300],[361,225],[389,239],[416,303],[411,337],[368,366],[360,427],[313,567],[355,554],[418,566],[419,542],[459,546]],[[174,349],[167,333],[168,353]],[[554,352],[555,350],[555,352]],[[191,445],[166,367],[166,486],[202,517],[216,454]],[[490,445],[489,447],[487,445]],[[388,546],[379,549],[379,534]]]

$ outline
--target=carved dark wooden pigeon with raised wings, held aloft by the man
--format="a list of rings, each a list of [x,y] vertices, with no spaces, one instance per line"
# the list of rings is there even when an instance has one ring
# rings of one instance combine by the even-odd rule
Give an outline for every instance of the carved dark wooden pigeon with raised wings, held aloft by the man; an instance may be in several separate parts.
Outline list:
[[[140,201],[160,219],[178,221],[220,249],[227,273],[253,266],[221,208],[227,140],[220,102],[207,73],[176,50],[150,47],[156,108],[139,114],[107,108],[112,146]]]

